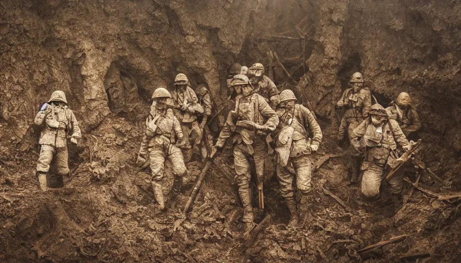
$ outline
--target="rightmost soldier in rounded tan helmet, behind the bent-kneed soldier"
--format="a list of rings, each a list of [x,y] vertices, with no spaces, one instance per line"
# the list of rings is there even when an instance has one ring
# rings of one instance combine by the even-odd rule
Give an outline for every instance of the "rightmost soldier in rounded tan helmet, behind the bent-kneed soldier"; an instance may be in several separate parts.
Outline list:
[[[406,92],[401,92],[396,101],[387,107],[389,119],[396,120],[405,136],[421,128],[418,112],[412,107],[412,99]]]

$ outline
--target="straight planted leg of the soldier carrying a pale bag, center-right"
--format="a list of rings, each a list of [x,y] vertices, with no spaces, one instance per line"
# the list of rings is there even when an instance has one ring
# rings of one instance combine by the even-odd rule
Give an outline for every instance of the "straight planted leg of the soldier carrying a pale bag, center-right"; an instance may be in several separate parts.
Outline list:
[[[291,165],[289,162],[287,165]],[[289,226],[295,226],[298,222],[298,212],[296,209],[296,199],[293,191],[293,174],[291,174],[286,167],[282,167],[277,163],[277,180],[280,183],[280,194],[285,198],[285,202],[290,211]]]

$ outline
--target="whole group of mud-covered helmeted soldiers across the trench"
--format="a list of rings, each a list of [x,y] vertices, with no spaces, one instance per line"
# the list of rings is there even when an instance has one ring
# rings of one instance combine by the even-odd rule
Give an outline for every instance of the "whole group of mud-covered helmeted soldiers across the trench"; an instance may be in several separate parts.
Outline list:
[[[251,224],[254,221],[252,171],[255,171],[257,189],[262,193],[264,159],[272,147],[280,193],[290,211],[289,225],[294,226],[298,222],[298,211],[293,181],[299,194],[310,195],[312,153],[322,142],[321,128],[312,112],[297,103],[293,91],[279,92],[264,75],[262,64],[234,67],[240,72],[232,72],[236,74],[227,80],[233,105],[222,118],[216,142],[209,128],[211,119],[216,117],[211,114],[216,109],[212,107],[207,86],[199,84],[194,91],[185,74],[180,73],[174,79],[172,93],[166,88],[157,88],[152,94],[136,165],[150,166],[155,200],[164,210],[165,162],[171,166],[174,176],[186,176],[185,163],[191,161],[194,152],[199,152],[203,159],[214,158],[226,145],[232,145],[235,182],[243,205],[242,221]],[[399,155],[411,148],[406,136],[421,124],[407,93],[402,92],[384,109],[377,103],[371,105],[371,93],[363,84],[362,74],[354,73],[349,81],[350,88],[337,103],[345,108],[338,139],[343,140],[347,132],[351,145],[351,161],[348,162],[352,170],[351,181],[358,182],[362,174],[363,196],[376,199],[385,171],[393,167]],[[69,173],[67,139],[77,143],[81,132],[67,106],[64,92],[59,90],[41,106],[35,123],[43,127],[36,176],[41,188],[46,190],[49,186],[46,175],[52,162],[52,174],[61,181],[62,176]],[[402,191],[402,180],[403,173],[400,173],[389,181],[396,202]],[[55,187],[62,187],[62,183]]]

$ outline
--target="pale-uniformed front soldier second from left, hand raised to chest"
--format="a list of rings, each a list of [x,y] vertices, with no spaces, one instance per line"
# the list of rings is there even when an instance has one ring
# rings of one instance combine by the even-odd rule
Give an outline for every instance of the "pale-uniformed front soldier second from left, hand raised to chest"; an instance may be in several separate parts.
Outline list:
[[[157,88],[152,94],[153,102],[146,119],[146,130],[136,159],[138,166],[142,166],[147,160],[150,161],[152,190],[161,210],[165,209],[162,192],[165,161],[170,162],[173,175],[187,174],[183,154],[178,147],[184,142],[183,132],[173,110],[168,108],[169,98],[171,98],[170,92],[165,88]]]

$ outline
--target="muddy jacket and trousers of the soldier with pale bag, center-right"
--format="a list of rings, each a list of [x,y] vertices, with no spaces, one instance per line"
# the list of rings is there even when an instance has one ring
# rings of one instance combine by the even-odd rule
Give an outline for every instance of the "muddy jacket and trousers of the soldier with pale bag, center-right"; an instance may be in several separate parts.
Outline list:
[[[296,175],[297,189],[303,194],[309,194],[311,187],[311,144],[320,144],[322,131],[309,109],[295,104],[293,109],[278,109],[280,133],[291,137],[291,145],[280,145],[288,151],[276,149],[278,154],[277,178],[280,183],[280,193],[287,199],[294,198],[293,177]],[[289,124],[291,119],[291,124]],[[282,132],[284,131],[284,132]],[[279,133],[279,136],[282,134]],[[312,139],[309,138],[312,135]],[[281,138],[280,138],[281,139]],[[282,139],[283,140],[283,139]]]

